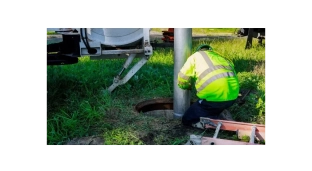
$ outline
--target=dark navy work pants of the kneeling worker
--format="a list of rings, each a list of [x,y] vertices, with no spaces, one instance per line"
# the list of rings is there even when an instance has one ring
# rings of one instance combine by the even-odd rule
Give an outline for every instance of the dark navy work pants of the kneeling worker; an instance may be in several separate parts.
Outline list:
[[[206,100],[200,100],[193,103],[190,108],[186,110],[182,117],[182,123],[184,125],[191,126],[194,123],[199,122],[200,117],[208,117],[210,119],[219,119],[220,113],[229,107],[231,107],[235,100],[226,102],[208,102]]]

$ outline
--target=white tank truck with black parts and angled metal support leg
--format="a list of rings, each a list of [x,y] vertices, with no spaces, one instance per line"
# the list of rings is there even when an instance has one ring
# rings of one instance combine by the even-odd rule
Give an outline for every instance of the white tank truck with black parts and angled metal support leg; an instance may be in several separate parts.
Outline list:
[[[46,45],[46,65],[75,64],[81,56],[95,59],[127,58],[123,68],[108,88],[112,92],[125,84],[153,54],[150,28],[47,28],[62,34],[60,42]],[[141,60],[120,78],[135,57]]]

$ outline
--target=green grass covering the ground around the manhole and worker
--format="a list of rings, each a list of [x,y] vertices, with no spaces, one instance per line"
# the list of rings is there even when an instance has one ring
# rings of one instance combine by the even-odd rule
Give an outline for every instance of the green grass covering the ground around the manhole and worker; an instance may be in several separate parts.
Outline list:
[[[238,72],[241,89],[252,89],[246,103],[229,110],[235,120],[266,122],[266,49],[257,46],[245,50],[246,39],[210,39],[193,41],[210,44],[232,60]],[[265,43],[265,42],[264,42]],[[105,93],[125,59],[91,61],[82,57],[79,63],[47,66],[47,128],[49,146],[62,146],[75,137],[98,135],[108,146],[178,146],[189,138],[179,120],[145,116],[134,111],[134,105],[153,98],[173,97],[173,49],[156,49],[153,56],[125,85],[112,94]],[[138,59],[135,59],[136,63]],[[125,71],[127,72],[127,71]],[[192,99],[196,99],[193,91]],[[201,134],[203,130],[191,130]],[[213,130],[203,135],[212,136]],[[220,138],[233,137],[221,131]]]

